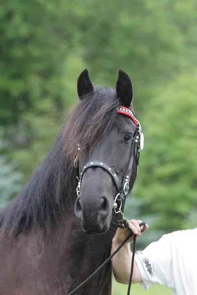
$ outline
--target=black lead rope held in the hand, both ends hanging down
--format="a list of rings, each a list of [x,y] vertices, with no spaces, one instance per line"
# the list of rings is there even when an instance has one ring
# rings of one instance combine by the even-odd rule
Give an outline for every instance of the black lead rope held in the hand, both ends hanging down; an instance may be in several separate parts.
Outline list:
[[[143,229],[141,230],[141,233],[144,232],[144,230],[146,229],[146,225],[145,222],[141,222],[139,224],[139,227],[141,227],[143,225]],[[88,283],[92,278],[94,278],[99,271],[106,266],[106,264],[114,257],[114,255],[116,255],[116,253],[124,246],[124,244],[130,239],[130,237],[133,235],[133,232],[131,231],[128,222],[124,223],[124,227],[122,225],[117,225],[119,228],[121,229],[125,229],[127,226],[127,230],[130,231],[129,236],[126,237],[126,239],[122,242],[122,244],[111,254],[111,256],[109,256],[105,262],[103,262],[103,264],[101,266],[99,266],[99,268],[97,270],[95,270],[83,283],[81,283],[77,288],[75,288],[74,290],[72,290],[70,293],[68,293],[67,295],[72,295],[74,294],[78,289],[80,289],[81,287],[83,287],[86,283]],[[132,274],[133,274],[133,268],[134,268],[134,257],[135,257],[135,246],[136,246],[136,235],[134,235],[133,238],[133,254],[132,254],[132,261],[131,261],[131,273],[130,273],[130,280],[129,280],[129,287],[128,287],[128,293],[127,295],[130,295],[130,290],[131,290],[131,282],[132,282]]]

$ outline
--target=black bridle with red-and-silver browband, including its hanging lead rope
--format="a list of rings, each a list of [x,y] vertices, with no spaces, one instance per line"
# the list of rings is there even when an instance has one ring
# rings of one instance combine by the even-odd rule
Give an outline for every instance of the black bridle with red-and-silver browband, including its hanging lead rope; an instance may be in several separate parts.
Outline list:
[[[132,166],[133,166],[134,157],[136,158],[137,168],[139,165],[139,156],[140,156],[140,151],[143,149],[144,136],[143,136],[139,121],[133,116],[130,109],[121,106],[121,107],[117,108],[117,113],[129,116],[132,119],[132,121],[135,123],[135,125],[137,126],[137,129],[135,131],[135,134],[133,136],[132,143],[131,143],[131,153],[130,153],[129,163],[127,166],[127,170],[125,172],[125,176],[123,177],[122,183],[121,183],[119,177],[117,176],[117,174],[113,171],[113,169],[109,165],[107,165],[101,161],[91,161],[83,167],[82,171],[80,171],[80,168],[79,168],[79,177],[77,177],[78,186],[77,186],[76,191],[77,191],[77,196],[79,196],[80,191],[81,191],[82,178],[83,178],[85,172],[89,168],[98,168],[99,167],[99,168],[102,168],[104,171],[106,171],[112,177],[112,179],[117,187],[117,192],[118,192],[115,199],[114,199],[113,209],[116,214],[120,213],[120,215],[121,215],[120,223],[122,223],[123,226],[120,224],[119,225],[116,224],[116,226],[119,228],[130,231],[130,234],[126,237],[126,239],[122,242],[122,244],[114,251],[114,253],[112,253],[111,256],[108,257],[107,260],[101,266],[99,266],[99,268],[91,276],[89,276],[77,288],[72,290],[68,295],[74,294],[79,288],[84,286],[93,277],[95,277],[99,273],[99,271],[112,259],[112,257],[123,247],[123,245],[133,235],[133,233],[129,227],[129,223],[128,223],[127,219],[124,217],[123,212],[121,211],[121,208],[124,207],[126,196],[130,190],[130,178],[132,175]],[[78,150],[80,150],[80,145],[78,145]],[[78,162],[79,162],[79,158],[77,156],[74,161],[75,168],[79,167]],[[136,177],[137,177],[137,171],[136,171],[135,180],[136,180]],[[146,225],[144,222],[142,222],[139,224],[139,226],[140,227],[143,226],[143,229],[141,230],[141,233],[142,233],[146,229]],[[134,267],[135,244],[136,244],[136,235],[134,235],[134,238],[133,238],[133,255],[132,255],[132,261],[131,261],[131,273],[130,273],[130,280],[129,280],[129,287],[128,287],[127,295],[130,295],[130,289],[131,289],[131,281],[132,281],[132,274],[133,274],[133,267]]]

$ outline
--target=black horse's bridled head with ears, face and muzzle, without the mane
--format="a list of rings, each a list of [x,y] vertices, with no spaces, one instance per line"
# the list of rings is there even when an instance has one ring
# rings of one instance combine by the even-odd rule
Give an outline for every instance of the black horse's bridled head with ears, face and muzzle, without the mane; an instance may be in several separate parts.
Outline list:
[[[89,100],[91,103],[95,89],[87,69],[78,78],[77,90],[80,100]],[[102,99],[108,99],[107,92],[97,95],[100,98],[105,95]],[[113,95],[115,107],[110,110],[114,118],[111,127],[107,128],[106,133],[105,126],[100,126],[104,136],[93,149],[87,145],[80,150],[79,142],[79,154],[75,161],[79,180],[75,215],[81,220],[83,231],[90,235],[106,232],[111,223],[113,208],[119,212],[124,207],[126,195],[136,179],[140,143],[143,148],[141,127],[132,110],[131,79],[121,69]],[[97,102],[98,100],[99,96]],[[99,103],[92,106],[94,107],[99,108]],[[105,113],[105,117],[108,116],[110,120],[110,112],[106,113],[102,108],[99,112],[100,116]],[[92,123],[96,119],[92,118]]]

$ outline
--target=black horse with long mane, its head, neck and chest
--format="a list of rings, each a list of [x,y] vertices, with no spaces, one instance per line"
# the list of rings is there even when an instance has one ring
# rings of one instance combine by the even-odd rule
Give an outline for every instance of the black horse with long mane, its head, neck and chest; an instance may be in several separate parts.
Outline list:
[[[120,219],[114,178],[124,180],[137,130],[131,80],[120,70],[116,90],[94,89],[84,70],[77,90],[80,102],[46,159],[0,213],[0,295],[66,295],[110,255]],[[99,166],[84,170],[94,161]],[[137,161],[134,154],[127,192]],[[110,263],[76,294],[111,294]]]

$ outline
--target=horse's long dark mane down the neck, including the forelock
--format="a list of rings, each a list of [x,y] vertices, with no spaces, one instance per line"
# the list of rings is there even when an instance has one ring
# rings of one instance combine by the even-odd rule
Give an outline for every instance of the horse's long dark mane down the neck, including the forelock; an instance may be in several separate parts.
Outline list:
[[[69,114],[45,160],[19,195],[0,213],[0,235],[18,236],[36,225],[50,228],[64,218],[76,199],[73,167],[77,144],[91,151],[112,128],[119,105],[114,89],[99,88]]]

